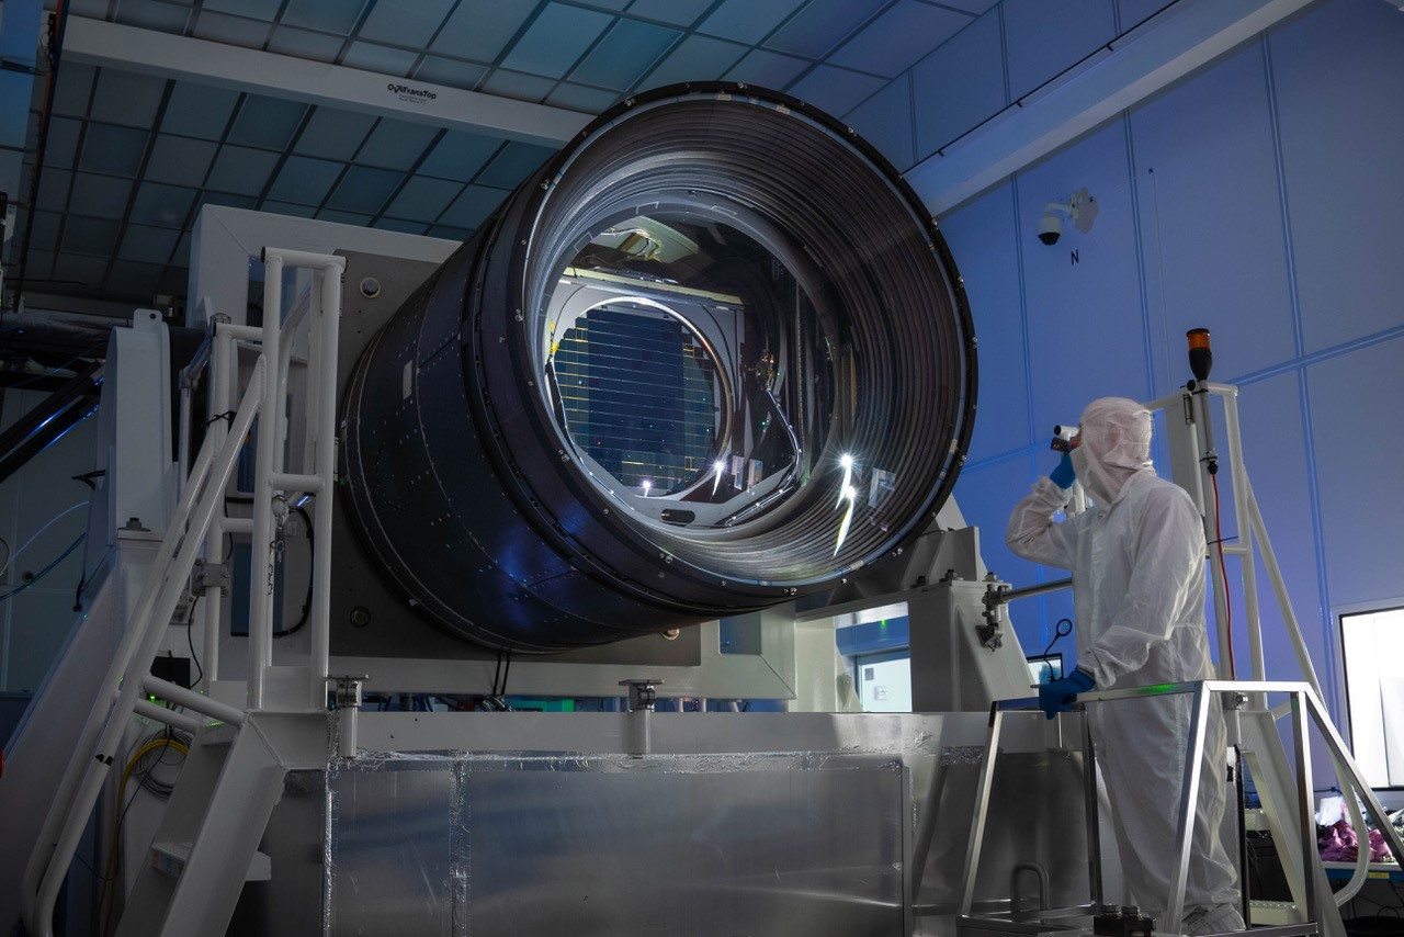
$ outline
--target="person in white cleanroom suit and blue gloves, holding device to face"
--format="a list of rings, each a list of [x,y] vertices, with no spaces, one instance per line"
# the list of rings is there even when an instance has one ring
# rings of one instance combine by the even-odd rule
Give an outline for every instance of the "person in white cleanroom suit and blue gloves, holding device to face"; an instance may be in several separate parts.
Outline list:
[[[1203,523],[1189,494],[1155,475],[1150,435],[1150,412],[1134,400],[1094,400],[1071,452],[1009,517],[1009,549],[1073,570],[1077,670],[1040,687],[1050,719],[1094,687],[1214,676],[1205,629]],[[1078,480],[1092,506],[1056,523]],[[1191,695],[1177,694],[1087,707],[1126,885],[1153,917],[1164,915],[1170,898],[1192,704]],[[1189,934],[1244,927],[1237,872],[1219,839],[1227,739],[1217,707],[1207,725],[1185,886],[1182,927]]]

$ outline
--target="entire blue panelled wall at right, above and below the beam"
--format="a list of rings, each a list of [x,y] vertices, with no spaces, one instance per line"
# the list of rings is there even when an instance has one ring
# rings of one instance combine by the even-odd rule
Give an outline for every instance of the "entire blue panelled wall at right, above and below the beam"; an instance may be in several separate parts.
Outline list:
[[[1119,27],[1158,6],[1120,0]],[[917,157],[1002,107],[990,89],[1004,55],[1018,96],[1109,28],[1108,4],[1077,8],[1009,0],[1002,53],[995,10],[918,63]],[[1015,583],[1061,575],[1002,545],[1009,507],[1053,464],[1049,428],[1092,398],[1148,399],[1182,384],[1182,333],[1207,326],[1214,376],[1243,382],[1247,465],[1338,715],[1334,610],[1404,593],[1401,49],[1404,17],[1389,6],[1317,6],[942,219],[980,336],[980,410],[956,499],[984,528],[986,562]],[[973,93],[979,108],[951,110]],[[1094,229],[1039,244],[1045,202],[1084,185],[1098,198]],[[1266,671],[1290,679],[1296,659],[1261,559],[1258,580]],[[1243,673],[1237,589],[1233,600]],[[1070,596],[1024,604],[1015,622],[1033,653]]]

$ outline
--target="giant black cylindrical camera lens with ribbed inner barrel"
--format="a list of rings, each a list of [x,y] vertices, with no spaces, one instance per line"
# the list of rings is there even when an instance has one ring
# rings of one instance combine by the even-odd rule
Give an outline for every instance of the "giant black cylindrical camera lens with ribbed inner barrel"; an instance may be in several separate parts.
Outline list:
[[[861,576],[948,496],[974,339],[851,131],[736,84],[601,117],[376,336],[362,539],[434,621],[552,650]]]

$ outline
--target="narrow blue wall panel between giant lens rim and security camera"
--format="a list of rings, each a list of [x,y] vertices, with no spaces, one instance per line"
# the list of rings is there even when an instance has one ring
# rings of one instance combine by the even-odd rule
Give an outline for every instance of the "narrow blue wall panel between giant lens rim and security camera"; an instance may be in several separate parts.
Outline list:
[[[969,452],[974,464],[1022,450],[1032,430],[1012,221],[1014,187],[1007,183],[941,222],[965,278],[979,339],[980,388]]]

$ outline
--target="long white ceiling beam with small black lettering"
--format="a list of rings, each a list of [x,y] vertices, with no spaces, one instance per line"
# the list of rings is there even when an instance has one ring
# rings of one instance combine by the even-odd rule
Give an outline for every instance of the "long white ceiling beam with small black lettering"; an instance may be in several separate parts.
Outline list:
[[[63,58],[552,148],[592,119],[578,111],[84,17],[69,17]]]

